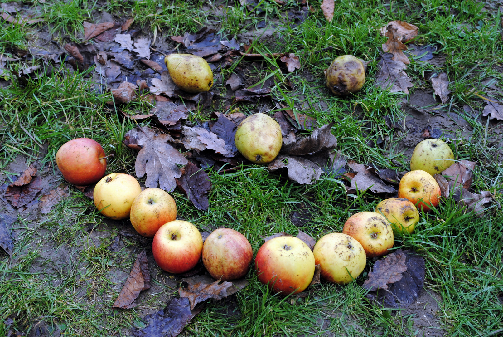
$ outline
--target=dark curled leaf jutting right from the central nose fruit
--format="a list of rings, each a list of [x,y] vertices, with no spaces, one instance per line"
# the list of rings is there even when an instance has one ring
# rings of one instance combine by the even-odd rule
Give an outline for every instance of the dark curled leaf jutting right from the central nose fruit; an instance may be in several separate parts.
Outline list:
[[[337,139],[331,133],[333,122],[323,125],[312,132],[309,137],[289,145],[283,145],[280,152],[289,155],[313,154],[320,151],[329,151],[337,146]]]

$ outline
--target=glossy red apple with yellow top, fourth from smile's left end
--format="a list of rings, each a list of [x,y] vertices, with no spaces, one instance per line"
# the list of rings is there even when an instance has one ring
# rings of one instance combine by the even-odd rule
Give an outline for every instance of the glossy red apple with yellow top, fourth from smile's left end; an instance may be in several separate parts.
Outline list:
[[[163,224],[152,241],[154,260],[160,269],[173,274],[185,273],[201,258],[203,237],[189,221]]]

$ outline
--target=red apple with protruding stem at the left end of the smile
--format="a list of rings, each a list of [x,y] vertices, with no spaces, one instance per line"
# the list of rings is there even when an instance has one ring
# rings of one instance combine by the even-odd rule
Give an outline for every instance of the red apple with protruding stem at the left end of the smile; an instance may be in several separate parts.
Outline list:
[[[107,169],[103,148],[90,138],[76,138],[64,143],[56,153],[56,163],[64,179],[79,186],[97,183]]]

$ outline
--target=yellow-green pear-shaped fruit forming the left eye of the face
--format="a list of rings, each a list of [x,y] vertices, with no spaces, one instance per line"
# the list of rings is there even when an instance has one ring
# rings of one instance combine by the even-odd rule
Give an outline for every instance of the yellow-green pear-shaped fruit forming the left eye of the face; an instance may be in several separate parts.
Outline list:
[[[213,72],[202,57],[192,54],[170,54],[164,58],[173,82],[188,93],[202,93],[213,86]]]

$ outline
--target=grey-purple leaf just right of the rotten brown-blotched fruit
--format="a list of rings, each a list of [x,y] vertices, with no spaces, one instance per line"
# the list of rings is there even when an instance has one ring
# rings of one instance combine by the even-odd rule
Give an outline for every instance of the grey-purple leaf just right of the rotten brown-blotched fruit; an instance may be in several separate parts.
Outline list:
[[[393,55],[385,53],[377,63],[376,85],[390,93],[404,92],[408,94],[408,88],[412,87],[410,78],[405,73],[407,66],[401,61],[394,61]]]

